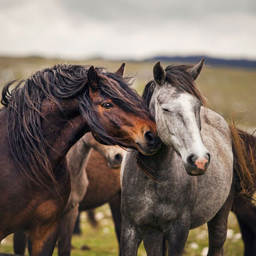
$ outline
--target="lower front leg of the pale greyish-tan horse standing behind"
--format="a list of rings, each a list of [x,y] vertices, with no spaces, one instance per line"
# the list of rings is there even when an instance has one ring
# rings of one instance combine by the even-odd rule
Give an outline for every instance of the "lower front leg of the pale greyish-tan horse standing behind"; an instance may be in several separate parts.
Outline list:
[[[58,255],[70,256],[71,239],[78,216],[78,204],[71,210],[64,212],[61,216],[59,236],[58,236]]]

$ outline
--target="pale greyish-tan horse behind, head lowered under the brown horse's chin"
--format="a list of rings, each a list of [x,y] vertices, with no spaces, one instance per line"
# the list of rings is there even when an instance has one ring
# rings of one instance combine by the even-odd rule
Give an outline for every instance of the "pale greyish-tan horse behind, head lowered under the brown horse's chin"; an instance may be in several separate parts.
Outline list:
[[[104,161],[105,165],[109,164],[115,168],[116,166],[120,167],[125,152],[123,148],[118,146],[102,145],[93,138],[91,133],[87,133],[67,154],[71,178],[71,193],[66,208],[61,216],[58,236],[59,256],[67,256],[71,253],[71,238],[78,216],[78,207],[87,194],[88,188],[90,189],[90,182],[92,181],[91,177],[88,177],[86,166],[90,164],[92,160],[91,157],[93,157],[93,155],[95,156],[94,151],[97,151],[100,153],[101,157],[107,159],[108,162]],[[100,164],[99,161],[101,157],[94,160]],[[95,169],[94,171],[96,172]],[[106,181],[104,182],[106,183]],[[102,185],[105,184],[104,182]],[[101,181],[98,179],[97,186],[101,187],[100,183]],[[105,186],[107,185],[105,184]],[[94,194],[96,193],[97,191],[94,190]]]

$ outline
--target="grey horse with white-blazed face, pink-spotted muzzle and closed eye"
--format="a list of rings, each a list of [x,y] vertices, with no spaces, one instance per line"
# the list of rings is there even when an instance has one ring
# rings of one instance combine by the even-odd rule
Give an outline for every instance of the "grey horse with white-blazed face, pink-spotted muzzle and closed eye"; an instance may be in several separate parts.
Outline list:
[[[208,225],[208,255],[223,255],[233,201],[232,136],[227,122],[204,108],[195,80],[203,67],[158,62],[143,97],[162,141],[152,156],[127,152],[121,173],[121,252],[182,255],[189,229]],[[207,170],[207,172],[206,172]],[[202,175],[202,176],[200,176]]]

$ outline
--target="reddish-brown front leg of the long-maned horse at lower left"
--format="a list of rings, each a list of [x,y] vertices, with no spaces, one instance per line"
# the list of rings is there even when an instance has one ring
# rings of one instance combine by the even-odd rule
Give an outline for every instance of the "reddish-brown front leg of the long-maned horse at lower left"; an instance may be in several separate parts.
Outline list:
[[[32,256],[50,256],[58,238],[59,220],[38,224],[29,231],[32,242]]]

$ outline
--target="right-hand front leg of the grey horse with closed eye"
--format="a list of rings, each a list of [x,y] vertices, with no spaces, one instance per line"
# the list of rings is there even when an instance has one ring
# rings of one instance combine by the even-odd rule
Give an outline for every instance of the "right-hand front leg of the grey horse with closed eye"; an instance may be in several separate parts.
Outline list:
[[[182,215],[175,220],[164,236],[168,240],[168,256],[181,256],[189,233],[189,215]]]

